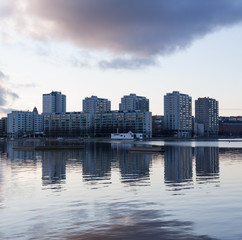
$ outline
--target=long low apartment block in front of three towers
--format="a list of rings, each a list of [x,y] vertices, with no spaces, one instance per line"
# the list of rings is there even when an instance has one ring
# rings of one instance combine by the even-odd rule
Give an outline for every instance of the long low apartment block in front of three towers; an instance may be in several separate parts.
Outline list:
[[[52,113],[44,116],[44,132],[50,137],[108,136],[111,133],[142,133],[152,137],[151,112],[70,112]]]

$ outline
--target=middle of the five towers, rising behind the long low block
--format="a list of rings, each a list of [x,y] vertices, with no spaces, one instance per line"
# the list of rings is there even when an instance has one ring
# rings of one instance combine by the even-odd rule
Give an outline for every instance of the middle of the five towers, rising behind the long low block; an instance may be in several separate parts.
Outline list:
[[[149,99],[146,97],[136,96],[131,93],[130,95],[123,96],[119,104],[120,111],[136,111],[149,112]]]

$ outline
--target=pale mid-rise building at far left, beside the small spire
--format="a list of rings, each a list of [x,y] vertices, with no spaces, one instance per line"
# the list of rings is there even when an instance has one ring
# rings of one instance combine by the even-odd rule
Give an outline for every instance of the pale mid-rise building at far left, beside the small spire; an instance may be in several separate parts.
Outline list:
[[[43,131],[42,115],[29,111],[13,111],[7,117],[7,136],[18,138]]]

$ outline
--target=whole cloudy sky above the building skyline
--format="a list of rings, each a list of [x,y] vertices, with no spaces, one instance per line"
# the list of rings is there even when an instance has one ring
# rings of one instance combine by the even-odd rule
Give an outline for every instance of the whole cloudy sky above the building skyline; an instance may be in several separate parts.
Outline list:
[[[242,0],[0,0],[0,116],[52,90],[67,111],[136,93],[163,114],[175,90],[242,115],[241,43]]]

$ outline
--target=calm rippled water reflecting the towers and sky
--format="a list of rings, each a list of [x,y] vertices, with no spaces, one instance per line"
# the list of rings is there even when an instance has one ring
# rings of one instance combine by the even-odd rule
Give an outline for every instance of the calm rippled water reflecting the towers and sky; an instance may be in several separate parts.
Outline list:
[[[0,239],[242,239],[242,142],[0,142]],[[6,152],[9,153],[8,157]]]

